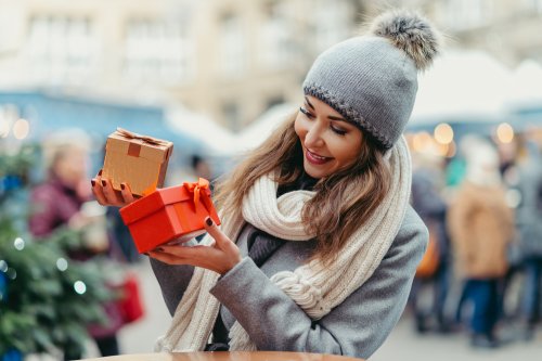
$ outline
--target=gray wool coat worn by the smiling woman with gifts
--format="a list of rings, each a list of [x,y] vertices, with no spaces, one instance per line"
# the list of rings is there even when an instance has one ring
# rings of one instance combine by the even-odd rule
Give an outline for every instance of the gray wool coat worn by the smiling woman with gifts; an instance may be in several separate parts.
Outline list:
[[[270,276],[293,271],[309,257],[314,242],[286,242],[258,268],[246,257],[246,236],[237,245],[245,256],[222,275],[211,294],[220,301],[227,328],[237,320],[259,350],[301,351],[369,358],[398,322],[412,280],[427,246],[428,233],[409,206],[402,227],[374,274],[321,320],[312,321]],[[151,259],[171,314],[193,273],[189,266]]]

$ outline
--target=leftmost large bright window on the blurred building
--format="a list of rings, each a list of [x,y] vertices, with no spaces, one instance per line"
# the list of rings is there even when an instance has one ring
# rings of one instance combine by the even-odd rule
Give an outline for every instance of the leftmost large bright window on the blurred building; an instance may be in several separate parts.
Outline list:
[[[77,83],[92,76],[98,41],[87,17],[30,18],[26,51],[38,78],[53,83]]]

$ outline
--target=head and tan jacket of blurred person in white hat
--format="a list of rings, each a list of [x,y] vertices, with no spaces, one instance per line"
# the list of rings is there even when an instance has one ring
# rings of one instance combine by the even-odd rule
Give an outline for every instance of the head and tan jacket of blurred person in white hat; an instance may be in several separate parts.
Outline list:
[[[514,212],[499,171],[499,155],[487,141],[470,140],[465,179],[448,211],[456,270],[466,279],[503,276],[507,248],[514,241]]]

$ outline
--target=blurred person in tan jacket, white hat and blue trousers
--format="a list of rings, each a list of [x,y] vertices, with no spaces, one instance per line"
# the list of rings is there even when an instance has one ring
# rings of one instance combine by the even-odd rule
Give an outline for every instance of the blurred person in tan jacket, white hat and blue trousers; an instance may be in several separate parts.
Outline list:
[[[493,348],[499,346],[495,325],[501,314],[500,288],[508,268],[506,250],[514,241],[514,212],[506,203],[492,144],[469,140],[465,154],[465,178],[447,222],[457,260],[455,270],[464,279],[463,296],[474,306],[472,345]]]

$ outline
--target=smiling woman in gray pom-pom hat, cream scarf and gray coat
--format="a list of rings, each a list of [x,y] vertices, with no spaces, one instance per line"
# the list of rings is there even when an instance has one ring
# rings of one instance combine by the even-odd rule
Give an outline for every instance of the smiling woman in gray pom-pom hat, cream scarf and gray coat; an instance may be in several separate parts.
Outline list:
[[[427,243],[400,138],[437,48],[425,20],[388,13],[318,57],[299,112],[217,184],[221,229],[207,219],[201,245],[150,253],[175,314],[157,350],[367,358],[383,344]],[[94,183],[102,204],[132,201]]]

